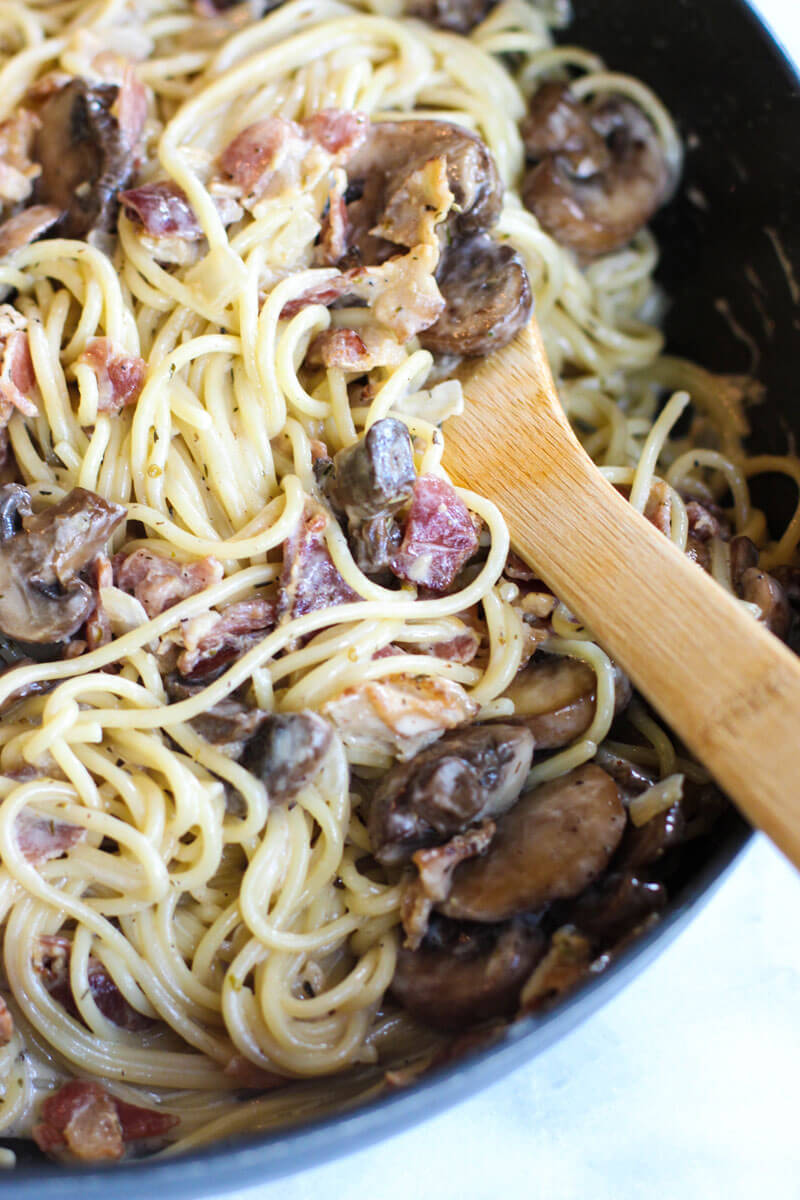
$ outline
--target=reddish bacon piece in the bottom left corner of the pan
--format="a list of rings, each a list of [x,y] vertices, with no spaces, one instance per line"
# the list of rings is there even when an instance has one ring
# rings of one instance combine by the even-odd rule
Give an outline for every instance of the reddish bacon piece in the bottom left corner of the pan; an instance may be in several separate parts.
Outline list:
[[[118,1100],[100,1084],[73,1079],[42,1104],[42,1121],[34,1127],[36,1145],[46,1151],[71,1151],[85,1163],[122,1157],[125,1142],[161,1138],[180,1117]]]

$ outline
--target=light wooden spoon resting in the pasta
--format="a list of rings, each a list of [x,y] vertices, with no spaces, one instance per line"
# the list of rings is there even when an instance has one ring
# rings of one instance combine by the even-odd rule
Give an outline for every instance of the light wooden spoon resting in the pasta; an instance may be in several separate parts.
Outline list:
[[[800,866],[800,659],[601,475],[535,322],[477,365],[445,428],[453,480],[585,622],[754,824]]]

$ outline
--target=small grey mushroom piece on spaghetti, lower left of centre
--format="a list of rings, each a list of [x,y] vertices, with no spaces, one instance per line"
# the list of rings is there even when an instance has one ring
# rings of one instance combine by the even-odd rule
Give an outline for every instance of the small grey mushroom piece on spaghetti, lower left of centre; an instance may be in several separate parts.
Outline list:
[[[249,739],[241,761],[263,780],[270,799],[281,803],[313,779],[332,738],[331,726],[317,713],[273,713]]]

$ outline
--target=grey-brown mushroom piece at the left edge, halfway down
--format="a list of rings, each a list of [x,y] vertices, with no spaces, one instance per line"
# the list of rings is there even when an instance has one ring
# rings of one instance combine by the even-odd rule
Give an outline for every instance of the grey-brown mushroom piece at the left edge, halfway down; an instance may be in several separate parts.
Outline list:
[[[78,577],[101,552],[125,509],[76,487],[31,514],[30,494],[0,488],[0,630],[20,642],[64,642],[95,606]]]

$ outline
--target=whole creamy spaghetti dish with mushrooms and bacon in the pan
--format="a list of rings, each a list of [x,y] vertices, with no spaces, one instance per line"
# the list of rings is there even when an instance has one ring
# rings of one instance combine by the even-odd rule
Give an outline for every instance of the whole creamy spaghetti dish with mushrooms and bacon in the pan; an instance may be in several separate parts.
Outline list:
[[[800,463],[664,353],[681,143],[567,17],[0,5],[0,1136],[401,1086],[602,970],[722,810],[441,467],[535,312],[600,469],[789,634],[748,484]]]

